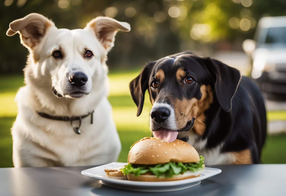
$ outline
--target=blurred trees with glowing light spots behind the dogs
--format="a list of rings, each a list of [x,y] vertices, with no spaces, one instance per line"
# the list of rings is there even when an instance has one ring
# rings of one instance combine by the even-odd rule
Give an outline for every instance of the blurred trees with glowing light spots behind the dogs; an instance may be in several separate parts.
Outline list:
[[[285,0],[4,0],[0,1],[0,74],[21,72],[26,48],[19,37],[7,37],[9,23],[37,12],[58,28],[84,28],[98,15],[114,17],[131,25],[118,33],[108,55],[110,68],[142,66],[182,50],[210,55],[217,50],[241,50],[253,38],[264,15],[286,15]],[[16,52],[16,53],[13,53]]]

